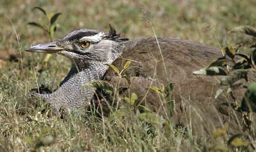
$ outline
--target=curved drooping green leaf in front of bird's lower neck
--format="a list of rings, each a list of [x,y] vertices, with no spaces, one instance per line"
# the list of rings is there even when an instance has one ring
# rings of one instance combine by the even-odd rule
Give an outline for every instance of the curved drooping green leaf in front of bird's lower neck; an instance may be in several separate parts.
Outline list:
[[[106,81],[90,81],[86,84],[83,84],[82,87],[80,87],[80,89],[84,89],[84,88],[97,88],[97,89],[105,89],[105,90],[110,90],[110,91],[114,91],[115,88],[107,83]]]

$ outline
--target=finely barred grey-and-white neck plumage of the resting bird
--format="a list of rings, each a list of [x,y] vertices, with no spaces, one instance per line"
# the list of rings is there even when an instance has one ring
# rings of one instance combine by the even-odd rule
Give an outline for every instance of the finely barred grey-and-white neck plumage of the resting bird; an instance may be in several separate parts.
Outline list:
[[[72,64],[68,75],[55,92],[35,96],[43,98],[56,109],[61,106],[67,109],[78,109],[81,106],[84,108],[90,103],[95,88],[81,89],[81,86],[91,81],[101,80],[107,69],[107,65],[97,62],[91,62],[86,66]]]

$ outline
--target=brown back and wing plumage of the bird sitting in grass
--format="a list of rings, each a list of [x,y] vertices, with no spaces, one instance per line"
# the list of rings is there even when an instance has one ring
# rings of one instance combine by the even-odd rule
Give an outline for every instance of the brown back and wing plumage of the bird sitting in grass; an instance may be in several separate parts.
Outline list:
[[[229,97],[222,96],[219,100],[214,100],[214,93],[219,86],[216,79],[193,74],[193,71],[209,65],[220,57],[221,51],[204,44],[170,37],[158,37],[157,40],[162,50],[167,74],[155,38],[140,38],[127,42],[122,56],[113,62],[118,69],[122,69],[126,59],[132,60],[129,69],[126,70],[126,74],[131,77],[130,91],[135,92],[139,101],[156,113],[169,113],[169,104],[162,103],[159,99],[161,97],[155,91],[148,89],[150,86],[161,88],[161,84],[167,86],[168,78],[169,83],[174,84],[176,123],[187,125],[192,119],[194,124],[204,124],[194,126],[198,132],[204,128],[209,130],[223,125],[226,120],[220,119],[216,107],[217,103],[228,101]],[[114,75],[114,70],[110,68],[105,78]],[[184,112],[187,115],[184,115]],[[179,115],[179,113],[183,114]],[[184,118],[184,116],[189,117]],[[221,117],[226,116],[221,115]],[[206,123],[204,120],[207,119],[212,121]]]

